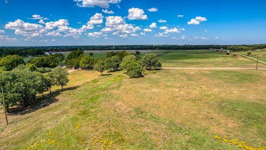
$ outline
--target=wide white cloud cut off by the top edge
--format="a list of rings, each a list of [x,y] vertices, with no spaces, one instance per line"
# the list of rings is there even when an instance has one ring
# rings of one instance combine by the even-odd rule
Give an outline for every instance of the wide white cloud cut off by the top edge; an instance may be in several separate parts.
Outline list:
[[[117,4],[122,0],[74,0],[80,7],[94,7],[109,8],[110,4]]]

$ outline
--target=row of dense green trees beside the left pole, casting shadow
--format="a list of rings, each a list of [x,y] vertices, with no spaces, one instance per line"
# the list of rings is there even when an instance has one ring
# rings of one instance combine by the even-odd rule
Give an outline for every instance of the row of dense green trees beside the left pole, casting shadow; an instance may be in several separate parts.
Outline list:
[[[60,66],[52,71],[41,73],[31,71],[24,64],[20,64],[11,71],[0,72],[0,88],[4,89],[6,109],[8,106],[28,106],[36,100],[37,94],[50,91],[53,85],[63,86],[67,84],[68,71]],[[0,100],[2,100],[0,98]]]

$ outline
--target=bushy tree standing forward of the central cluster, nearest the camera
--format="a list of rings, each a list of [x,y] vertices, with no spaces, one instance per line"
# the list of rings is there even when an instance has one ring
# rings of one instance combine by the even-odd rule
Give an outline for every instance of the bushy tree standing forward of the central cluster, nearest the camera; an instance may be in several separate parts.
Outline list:
[[[126,70],[127,70],[127,74],[130,77],[141,77],[141,76],[143,76],[143,74],[142,74],[143,69],[142,69],[141,65],[137,61],[130,61],[127,64]]]

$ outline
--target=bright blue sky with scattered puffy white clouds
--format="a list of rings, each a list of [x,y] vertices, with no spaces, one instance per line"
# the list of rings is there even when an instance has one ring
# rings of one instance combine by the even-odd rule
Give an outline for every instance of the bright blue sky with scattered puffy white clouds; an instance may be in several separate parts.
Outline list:
[[[266,0],[0,0],[0,45],[253,43]]]

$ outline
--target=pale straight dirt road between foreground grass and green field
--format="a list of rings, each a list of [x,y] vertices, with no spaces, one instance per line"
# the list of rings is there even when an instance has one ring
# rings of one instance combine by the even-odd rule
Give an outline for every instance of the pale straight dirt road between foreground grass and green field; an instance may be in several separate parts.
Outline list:
[[[215,70],[255,70],[253,67],[162,67],[160,69],[215,69]],[[258,68],[266,70],[266,68]]]

